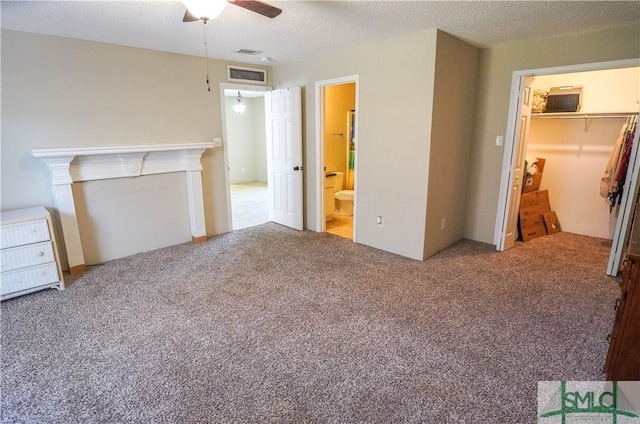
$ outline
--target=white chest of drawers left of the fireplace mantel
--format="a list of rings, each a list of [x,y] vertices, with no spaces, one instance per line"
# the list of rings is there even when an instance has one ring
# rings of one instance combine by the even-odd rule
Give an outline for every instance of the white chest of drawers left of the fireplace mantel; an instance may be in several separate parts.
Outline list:
[[[51,215],[43,207],[1,212],[0,300],[64,290]]]

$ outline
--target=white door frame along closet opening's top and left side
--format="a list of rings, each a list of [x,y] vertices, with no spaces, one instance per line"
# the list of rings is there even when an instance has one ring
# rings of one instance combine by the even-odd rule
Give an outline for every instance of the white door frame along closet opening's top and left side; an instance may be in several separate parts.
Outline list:
[[[509,187],[513,184],[513,157],[517,149],[515,145],[517,138],[518,108],[519,108],[519,87],[525,76],[566,74],[573,72],[603,71],[608,69],[631,68],[640,66],[640,58],[622,59],[606,62],[582,63],[575,65],[554,66],[549,68],[536,68],[514,71],[511,78],[511,94],[509,100],[509,115],[507,118],[506,137],[504,140],[504,153],[502,157],[502,173],[500,178],[500,191],[498,193],[498,207],[496,212],[496,222],[494,227],[493,244],[496,250],[501,250],[501,245],[505,237],[505,220],[508,219],[508,205],[511,200]],[[629,222],[625,220],[628,230]],[[618,228],[618,225],[616,225]],[[625,230],[625,231],[626,231]]]

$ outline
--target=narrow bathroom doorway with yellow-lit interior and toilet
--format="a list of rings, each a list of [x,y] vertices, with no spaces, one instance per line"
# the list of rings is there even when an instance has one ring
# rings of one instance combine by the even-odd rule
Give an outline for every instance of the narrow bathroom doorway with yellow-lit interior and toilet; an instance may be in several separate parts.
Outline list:
[[[357,76],[316,83],[320,231],[356,239]]]

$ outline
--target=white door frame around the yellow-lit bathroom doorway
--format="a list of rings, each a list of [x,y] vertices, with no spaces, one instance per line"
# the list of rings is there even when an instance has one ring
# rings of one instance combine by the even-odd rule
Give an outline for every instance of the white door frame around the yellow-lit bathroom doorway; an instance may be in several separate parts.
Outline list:
[[[331,78],[321,81],[316,81],[316,228],[317,232],[324,233],[327,230],[327,222],[324,219],[324,96],[322,95],[322,90],[325,87],[330,87],[333,85],[342,85],[342,84],[350,84],[355,83],[355,120],[356,125],[354,128],[355,133],[355,146],[356,153],[354,157],[353,164],[353,241],[356,241],[356,225],[357,225],[357,208],[358,208],[358,157],[360,156],[360,149],[358,145],[360,144],[360,137],[358,136],[358,127],[360,126],[360,75],[349,75],[339,78]]]

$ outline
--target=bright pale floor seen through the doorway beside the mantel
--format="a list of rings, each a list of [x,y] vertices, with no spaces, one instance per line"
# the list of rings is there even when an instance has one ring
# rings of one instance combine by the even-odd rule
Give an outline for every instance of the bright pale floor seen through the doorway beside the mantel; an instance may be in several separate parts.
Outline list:
[[[267,183],[230,184],[233,229],[253,227],[269,221]]]

